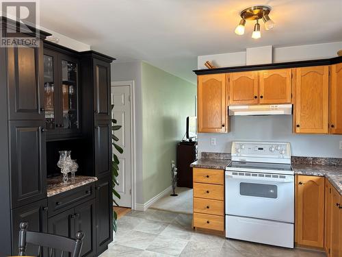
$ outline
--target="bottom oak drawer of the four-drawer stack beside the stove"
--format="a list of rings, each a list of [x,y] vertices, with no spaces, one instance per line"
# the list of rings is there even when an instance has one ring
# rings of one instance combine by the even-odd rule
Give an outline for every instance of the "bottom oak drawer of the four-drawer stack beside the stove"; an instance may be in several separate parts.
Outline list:
[[[194,212],[194,227],[224,231],[224,216],[205,215]]]

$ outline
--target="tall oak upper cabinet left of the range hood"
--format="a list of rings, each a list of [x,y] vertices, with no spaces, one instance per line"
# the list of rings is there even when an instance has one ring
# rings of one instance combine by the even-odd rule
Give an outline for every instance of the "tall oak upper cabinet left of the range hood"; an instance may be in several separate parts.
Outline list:
[[[226,75],[198,76],[198,132],[227,132]]]

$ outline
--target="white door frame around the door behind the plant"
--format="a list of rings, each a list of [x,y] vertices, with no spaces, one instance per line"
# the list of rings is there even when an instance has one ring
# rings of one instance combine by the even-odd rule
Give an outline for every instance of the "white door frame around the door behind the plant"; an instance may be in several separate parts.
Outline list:
[[[112,81],[112,86],[129,86],[131,103],[131,209],[135,210],[135,85],[134,80]]]

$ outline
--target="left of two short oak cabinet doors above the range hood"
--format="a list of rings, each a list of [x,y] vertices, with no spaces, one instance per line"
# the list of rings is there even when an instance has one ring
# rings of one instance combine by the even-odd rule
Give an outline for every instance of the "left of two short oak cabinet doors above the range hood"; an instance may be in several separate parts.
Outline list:
[[[228,76],[230,105],[259,103],[258,71],[236,72]]]

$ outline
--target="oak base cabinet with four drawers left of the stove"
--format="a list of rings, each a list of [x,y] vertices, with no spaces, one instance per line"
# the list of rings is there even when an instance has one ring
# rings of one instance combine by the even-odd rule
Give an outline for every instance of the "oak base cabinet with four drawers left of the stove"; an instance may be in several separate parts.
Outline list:
[[[194,168],[196,229],[224,232],[224,171]]]

